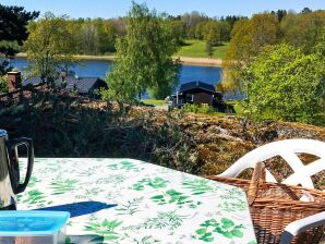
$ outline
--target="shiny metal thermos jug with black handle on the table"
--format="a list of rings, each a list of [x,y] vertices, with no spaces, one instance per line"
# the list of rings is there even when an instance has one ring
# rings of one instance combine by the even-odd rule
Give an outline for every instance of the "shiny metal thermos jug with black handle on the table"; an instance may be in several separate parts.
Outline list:
[[[20,182],[17,147],[27,148],[28,164],[24,182]],[[15,210],[16,195],[25,191],[32,175],[34,148],[31,138],[9,139],[7,131],[0,130],[0,210]]]

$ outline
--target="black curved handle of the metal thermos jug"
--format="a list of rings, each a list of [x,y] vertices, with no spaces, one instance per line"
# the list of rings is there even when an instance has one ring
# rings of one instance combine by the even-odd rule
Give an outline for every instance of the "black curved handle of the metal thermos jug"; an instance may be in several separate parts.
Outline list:
[[[27,164],[27,172],[25,176],[24,183],[20,184],[19,178],[14,175],[15,171],[19,173],[19,169],[14,169],[14,160],[19,160],[16,157],[17,155],[15,154],[15,149],[20,145],[25,145],[27,148],[27,157],[28,157],[28,164]],[[5,142],[8,155],[9,155],[9,175],[10,175],[10,181],[11,181],[11,186],[12,191],[14,194],[19,194],[25,191],[31,175],[33,171],[33,166],[34,166],[34,147],[33,147],[33,141],[31,138],[26,137],[21,137],[16,139],[9,139]]]

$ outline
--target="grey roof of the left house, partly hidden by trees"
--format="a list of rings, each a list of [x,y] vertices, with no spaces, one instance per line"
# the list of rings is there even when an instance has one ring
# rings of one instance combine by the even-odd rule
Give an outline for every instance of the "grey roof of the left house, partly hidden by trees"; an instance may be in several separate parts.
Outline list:
[[[98,77],[74,77],[74,76],[68,76],[65,77],[65,82],[67,82],[67,87],[64,89],[67,90],[73,90],[74,88],[77,89],[79,93],[81,94],[86,94],[89,93],[91,89],[93,88],[93,86],[96,84],[96,82],[98,81]],[[58,77],[55,83],[56,86],[60,86],[61,85],[61,77]],[[38,85],[41,83],[40,77],[38,76],[34,76],[34,77],[29,77],[27,80],[24,81],[23,85]]]

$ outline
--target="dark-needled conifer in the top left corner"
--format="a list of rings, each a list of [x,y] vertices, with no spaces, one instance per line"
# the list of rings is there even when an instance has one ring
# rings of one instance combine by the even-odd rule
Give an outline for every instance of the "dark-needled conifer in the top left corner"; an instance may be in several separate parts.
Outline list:
[[[8,72],[9,61],[19,52],[23,41],[28,37],[26,25],[38,16],[38,12],[26,12],[22,7],[5,7],[0,4],[0,76]]]

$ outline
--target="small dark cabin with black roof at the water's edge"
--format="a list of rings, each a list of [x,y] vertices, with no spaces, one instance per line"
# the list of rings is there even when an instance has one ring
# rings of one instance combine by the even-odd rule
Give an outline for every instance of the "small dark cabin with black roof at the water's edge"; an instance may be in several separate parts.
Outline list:
[[[222,94],[216,91],[215,87],[204,82],[190,82],[180,86],[176,95],[172,95],[173,107],[182,107],[184,103],[208,105],[215,108],[222,101]]]

